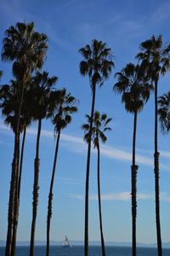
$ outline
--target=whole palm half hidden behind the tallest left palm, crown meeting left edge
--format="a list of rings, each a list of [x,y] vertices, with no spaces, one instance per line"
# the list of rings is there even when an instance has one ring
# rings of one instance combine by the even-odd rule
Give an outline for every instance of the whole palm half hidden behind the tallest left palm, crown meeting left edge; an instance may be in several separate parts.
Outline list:
[[[5,84],[5,85],[2,85],[0,88],[0,95],[1,95],[0,107],[2,108],[3,116],[6,117],[4,122],[11,127],[12,131],[14,131],[14,134],[16,133],[17,114],[18,114],[18,108],[20,106],[19,87],[20,87],[20,83],[18,83],[17,81],[11,80],[11,85]],[[16,232],[17,232],[17,226],[18,226],[19,204],[20,204],[20,183],[21,183],[21,173],[22,173],[22,160],[23,160],[23,154],[24,154],[24,143],[25,143],[25,137],[26,137],[26,127],[30,124],[31,124],[31,119],[29,118],[28,110],[26,106],[26,90],[25,90],[22,109],[20,113],[20,133],[24,131],[24,136],[23,136],[23,142],[22,142],[22,148],[21,148],[20,166],[18,166],[17,172],[16,172],[16,183],[15,183],[15,192],[14,192],[14,217],[13,217],[14,224],[13,224],[11,254],[13,254],[15,250]],[[19,136],[19,140],[20,140],[20,136]]]

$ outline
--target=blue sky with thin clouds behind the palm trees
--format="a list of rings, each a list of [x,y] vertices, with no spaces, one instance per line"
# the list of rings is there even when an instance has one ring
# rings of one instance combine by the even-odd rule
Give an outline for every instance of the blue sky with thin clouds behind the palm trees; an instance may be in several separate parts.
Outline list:
[[[148,0],[2,0],[0,4],[0,41],[8,26],[17,21],[34,21],[38,32],[48,35],[49,48],[44,70],[57,75],[58,88],[66,87],[79,99],[79,112],[63,131],[57,172],[54,181],[54,207],[51,239],[83,240],[84,190],[87,145],[83,143],[81,125],[91,108],[88,78],[79,73],[82,56],[78,49],[94,38],[106,42],[114,53],[116,68],[104,86],[97,91],[96,109],[113,119],[108,142],[101,150],[101,194],[106,241],[131,241],[130,165],[132,158],[133,115],[126,113],[120,96],[112,91],[114,75],[127,62],[135,62],[139,44],[152,34],[170,40],[170,2]],[[0,44],[2,49],[2,43]],[[2,63],[2,84],[12,79],[11,64]],[[159,95],[169,90],[170,74],[161,79]],[[154,203],[154,101],[139,114],[137,131],[138,215],[137,240],[156,242]],[[37,123],[31,125],[26,137],[26,151],[21,186],[18,240],[29,240],[33,160]],[[40,190],[36,239],[46,239],[46,216],[49,181],[54,159],[54,130],[50,121],[42,122]],[[14,135],[0,122],[0,240],[6,239],[8,189],[14,148]],[[169,136],[159,134],[161,183],[162,241],[170,241],[170,143]],[[89,239],[99,240],[99,214],[96,183],[96,152],[92,154],[89,191]]]

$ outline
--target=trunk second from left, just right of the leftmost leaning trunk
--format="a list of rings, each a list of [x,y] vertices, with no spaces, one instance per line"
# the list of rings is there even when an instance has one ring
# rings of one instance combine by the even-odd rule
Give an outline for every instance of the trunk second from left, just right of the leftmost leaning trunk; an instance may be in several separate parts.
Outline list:
[[[24,148],[25,148],[25,141],[26,141],[26,127],[24,129],[23,138],[22,138],[22,147],[20,153],[20,171],[17,174],[17,184],[15,189],[15,200],[14,200],[14,227],[13,227],[13,238],[12,238],[12,249],[11,249],[11,256],[15,255],[15,248],[16,248],[16,236],[17,236],[17,228],[18,228],[18,218],[19,218],[19,207],[20,207],[20,184],[21,184],[21,176],[22,176],[22,163],[24,157]],[[18,166],[19,169],[19,166]]]

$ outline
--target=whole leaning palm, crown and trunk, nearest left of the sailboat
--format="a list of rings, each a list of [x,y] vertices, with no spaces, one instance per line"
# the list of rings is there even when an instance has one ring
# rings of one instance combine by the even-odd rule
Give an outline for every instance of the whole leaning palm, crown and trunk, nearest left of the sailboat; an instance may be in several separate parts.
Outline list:
[[[76,103],[77,100],[71,93],[67,93],[65,89],[56,90],[50,96],[51,106],[48,109],[48,117],[51,117],[54,125],[54,136],[56,137],[56,146],[54,152],[54,165],[51,176],[50,188],[48,193],[48,215],[47,215],[47,246],[46,256],[49,255],[49,232],[50,222],[52,218],[52,204],[53,204],[53,188],[54,176],[57,164],[57,156],[59,151],[59,138],[60,133],[67,125],[71,123],[71,114],[77,113]]]

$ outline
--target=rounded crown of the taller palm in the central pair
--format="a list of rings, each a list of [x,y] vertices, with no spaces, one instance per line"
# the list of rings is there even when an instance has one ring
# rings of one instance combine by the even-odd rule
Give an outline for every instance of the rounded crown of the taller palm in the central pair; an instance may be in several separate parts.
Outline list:
[[[84,61],[80,62],[80,73],[82,76],[88,75],[92,89],[94,84],[101,86],[109,78],[111,69],[114,67],[111,48],[107,48],[102,41],[94,39],[91,45],[87,44],[79,49],[79,53],[84,58]]]

